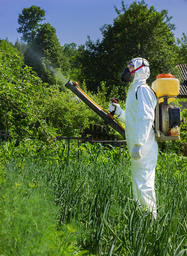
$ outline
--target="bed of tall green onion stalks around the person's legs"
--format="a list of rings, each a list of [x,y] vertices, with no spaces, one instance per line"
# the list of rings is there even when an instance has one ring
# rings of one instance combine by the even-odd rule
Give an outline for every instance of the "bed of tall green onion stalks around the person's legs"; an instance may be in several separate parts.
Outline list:
[[[121,168],[74,163],[55,177],[58,220],[79,223],[85,231],[81,244],[89,252],[161,256],[186,249],[186,174],[157,170],[158,220],[152,227],[151,213],[145,214],[133,200],[129,164]]]

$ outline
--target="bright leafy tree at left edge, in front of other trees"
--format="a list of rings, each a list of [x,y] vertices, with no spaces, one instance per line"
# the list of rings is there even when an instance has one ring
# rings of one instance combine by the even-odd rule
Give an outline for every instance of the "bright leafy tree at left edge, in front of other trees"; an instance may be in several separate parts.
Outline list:
[[[53,144],[55,133],[27,103],[33,92],[44,92],[45,84],[22,64],[15,48],[0,40],[0,127],[16,139],[15,146],[29,135],[40,139],[42,150]]]

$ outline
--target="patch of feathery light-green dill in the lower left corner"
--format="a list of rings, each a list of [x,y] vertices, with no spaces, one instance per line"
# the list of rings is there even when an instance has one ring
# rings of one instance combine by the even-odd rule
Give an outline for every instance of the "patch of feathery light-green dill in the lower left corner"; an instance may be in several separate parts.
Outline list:
[[[0,255],[87,255],[77,228],[58,226],[51,184],[33,158],[12,159],[0,170]]]

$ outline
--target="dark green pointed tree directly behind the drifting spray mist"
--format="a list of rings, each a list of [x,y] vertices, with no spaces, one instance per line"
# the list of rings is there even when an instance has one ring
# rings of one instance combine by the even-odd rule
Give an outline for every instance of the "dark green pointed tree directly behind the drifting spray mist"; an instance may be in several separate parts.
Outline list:
[[[59,81],[55,76],[55,70],[66,77],[69,76],[68,58],[63,53],[55,28],[49,23],[44,23],[37,32],[35,39],[25,52],[25,63],[34,68],[43,82],[57,84]]]

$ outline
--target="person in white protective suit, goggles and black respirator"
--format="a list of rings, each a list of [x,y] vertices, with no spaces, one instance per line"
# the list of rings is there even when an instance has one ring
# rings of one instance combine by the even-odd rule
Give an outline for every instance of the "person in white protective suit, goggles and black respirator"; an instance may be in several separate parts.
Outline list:
[[[121,74],[123,83],[130,82],[126,111],[119,104],[110,103],[109,112],[125,124],[127,148],[131,156],[132,187],[136,202],[157,217],[154,191],[158,144],[153,130],[156,96],[146,85],[150,76],[149,63],[143,58],[132,59]]]

